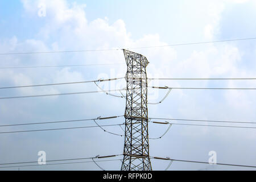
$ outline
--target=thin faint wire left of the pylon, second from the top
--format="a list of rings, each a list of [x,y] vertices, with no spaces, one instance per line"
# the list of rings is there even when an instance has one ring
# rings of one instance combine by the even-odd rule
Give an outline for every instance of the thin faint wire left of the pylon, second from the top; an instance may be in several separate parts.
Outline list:
[[[27,67],[0,67],[0,69],[55,68],[55,67],[90,67],[90,66],[101,66],[101,65],[125,65],[125,64],[110,63],[110,64],[77,64],[77,65],[42,65],[42,66],[27,66]]]

